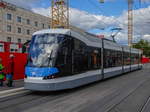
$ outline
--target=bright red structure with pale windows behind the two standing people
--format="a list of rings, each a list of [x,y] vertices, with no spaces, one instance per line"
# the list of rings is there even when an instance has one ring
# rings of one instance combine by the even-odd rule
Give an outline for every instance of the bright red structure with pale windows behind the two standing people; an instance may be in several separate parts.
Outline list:
[[[24,66],[27,60],[27,52],[24,48],[25,46],[21,43],[0,41],[0,58],[5,67],[4,72],[7,71],[10,55],[14,56],[14,80],[24,78]]]

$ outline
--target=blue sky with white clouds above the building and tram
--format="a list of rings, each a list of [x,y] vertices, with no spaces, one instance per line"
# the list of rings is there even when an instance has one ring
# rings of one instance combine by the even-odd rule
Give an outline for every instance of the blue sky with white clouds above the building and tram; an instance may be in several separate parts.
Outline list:
[[[35,13],[50,17],[51,0],[4,0]],[[119,44],[127,44],[127,0],[69,0],[70,24],[85,31],[110,38],[113,28],[122,28],[115,37]],[[150,41],[150,0],[134,0],[134,38]]]

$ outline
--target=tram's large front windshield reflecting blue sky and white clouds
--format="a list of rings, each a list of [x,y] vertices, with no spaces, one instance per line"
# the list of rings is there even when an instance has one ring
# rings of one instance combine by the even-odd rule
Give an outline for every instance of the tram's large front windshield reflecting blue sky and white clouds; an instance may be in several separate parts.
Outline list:
[[[59,43],[64,35],[42,34],[32,37],[29,49],[28,64],[32,67],[53,67]]]

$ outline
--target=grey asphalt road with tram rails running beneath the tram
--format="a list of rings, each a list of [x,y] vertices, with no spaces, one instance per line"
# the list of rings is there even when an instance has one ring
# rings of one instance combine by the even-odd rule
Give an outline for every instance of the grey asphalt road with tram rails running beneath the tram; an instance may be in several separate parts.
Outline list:
[[[0,112],[150,112],[150,64],[72,90],[3,99]]]

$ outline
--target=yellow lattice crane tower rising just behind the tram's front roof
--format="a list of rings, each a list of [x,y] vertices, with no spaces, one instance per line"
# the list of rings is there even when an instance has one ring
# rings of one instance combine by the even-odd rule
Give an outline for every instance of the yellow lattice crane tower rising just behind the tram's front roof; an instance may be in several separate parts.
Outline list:
[[[69,28],[68,4],[68,0],[51,0],[51,28]]]

